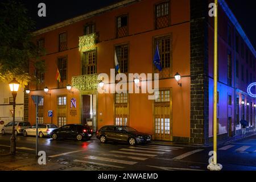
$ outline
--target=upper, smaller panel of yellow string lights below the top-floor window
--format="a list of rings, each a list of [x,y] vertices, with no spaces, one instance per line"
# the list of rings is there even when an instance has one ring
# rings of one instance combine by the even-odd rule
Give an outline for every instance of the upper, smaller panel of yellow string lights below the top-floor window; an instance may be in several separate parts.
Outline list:
[[[96,33],[79,37],[79,51],[85,52],[95,49]]]

